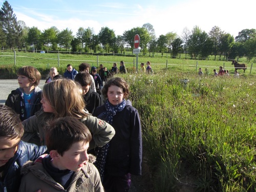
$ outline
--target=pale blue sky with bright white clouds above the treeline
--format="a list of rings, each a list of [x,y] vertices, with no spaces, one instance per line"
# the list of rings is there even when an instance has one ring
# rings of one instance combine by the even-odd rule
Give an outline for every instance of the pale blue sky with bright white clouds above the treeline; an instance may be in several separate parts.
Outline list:
[[[1,8],[5,1],[0,0]],[[53,26],[66,28],[75,36],[78,28],[102,27],[116,35],[150,23],[156,37],[168,32],[182,36],[184,28],[198,26],[208,33],[218,26],[225,33],[238,36],[243,29],[256,29],[255,0],[140,0],[140,1],[67,1],[67,0],[9,0],[17,20],[41,32]]]

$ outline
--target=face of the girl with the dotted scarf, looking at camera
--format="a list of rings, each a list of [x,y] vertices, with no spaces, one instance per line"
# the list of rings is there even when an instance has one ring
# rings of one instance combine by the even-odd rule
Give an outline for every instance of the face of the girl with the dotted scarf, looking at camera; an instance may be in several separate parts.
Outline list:
[[[117,86],[110,86],[108,89],[108,99],[112,105],[117,105],[123,100],[123,89]]]

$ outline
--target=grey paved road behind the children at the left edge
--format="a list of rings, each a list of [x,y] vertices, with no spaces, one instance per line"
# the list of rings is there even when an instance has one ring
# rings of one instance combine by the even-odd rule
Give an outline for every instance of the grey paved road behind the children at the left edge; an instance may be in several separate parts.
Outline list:
[[[42,87],[45,84],[44,79],[40,80],[39,88],[42,89]],[[11,93],[12,90],[15,90],[18,88],[18,81],[17,79],[0,79],[0,103],[5,104],[5,101],[8,97],[8,95]]]

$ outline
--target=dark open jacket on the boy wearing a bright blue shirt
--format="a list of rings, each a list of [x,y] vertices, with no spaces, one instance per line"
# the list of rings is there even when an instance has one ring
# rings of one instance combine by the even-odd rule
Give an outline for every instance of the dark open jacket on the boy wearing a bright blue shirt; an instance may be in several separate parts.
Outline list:
[[[37,111],[41,109],[42,103],[41,101],[41,95],[42,91],[39,87],[35,87],[33,91],[33,96],[31,98],[31,114],[30,116],[35,115]],[[9,106],[12,108],[17,114],[19,114],[20,120],[24,121],[27,119],[27,113],[25,112],[25,101],[24,101],[24,93],[22,88],[17,88],[16,90],[13,90],[6,102],[5,105]]]

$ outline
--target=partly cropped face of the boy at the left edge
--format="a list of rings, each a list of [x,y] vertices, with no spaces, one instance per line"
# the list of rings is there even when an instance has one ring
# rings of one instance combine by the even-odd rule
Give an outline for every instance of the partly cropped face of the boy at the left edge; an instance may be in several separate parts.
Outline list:
[[[20,138],[0,137],[0,167],[11,159],[18,148]]]

